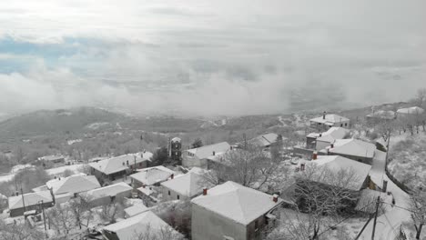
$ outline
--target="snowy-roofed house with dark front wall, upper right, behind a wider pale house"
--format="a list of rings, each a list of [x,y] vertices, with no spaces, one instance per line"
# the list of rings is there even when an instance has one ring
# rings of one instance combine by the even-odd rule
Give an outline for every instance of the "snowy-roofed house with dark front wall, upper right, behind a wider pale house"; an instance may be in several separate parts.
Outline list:
[[[324,133],[311,133],[306,136],[306,148],[321,150],[330,144],[334,143],[337,139],[342,139],[349,135],[350,131],[343,127],[330,127]]]

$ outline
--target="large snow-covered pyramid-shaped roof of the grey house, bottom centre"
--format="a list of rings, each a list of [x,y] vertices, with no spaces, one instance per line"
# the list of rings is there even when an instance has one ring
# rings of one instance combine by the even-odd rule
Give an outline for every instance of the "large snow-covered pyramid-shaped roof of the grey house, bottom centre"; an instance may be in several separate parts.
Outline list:
[[[199,195],[191,201],[211,212],[223,215],[243,225],[248,225],[260,215],[267,214],[280,205],[272,195],[228,181],[208,189],[207,195]]]

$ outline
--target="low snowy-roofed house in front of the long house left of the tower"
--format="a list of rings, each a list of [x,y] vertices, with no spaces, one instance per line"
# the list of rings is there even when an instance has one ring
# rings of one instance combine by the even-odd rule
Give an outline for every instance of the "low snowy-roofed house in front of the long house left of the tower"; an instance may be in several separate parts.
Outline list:
[[[118,183],[115,185],[106,185],[104,187],[89,190],[80,194],[90,205],[108,205],[114,202],[124,200],[132,195],[133,188],[126,183]]]

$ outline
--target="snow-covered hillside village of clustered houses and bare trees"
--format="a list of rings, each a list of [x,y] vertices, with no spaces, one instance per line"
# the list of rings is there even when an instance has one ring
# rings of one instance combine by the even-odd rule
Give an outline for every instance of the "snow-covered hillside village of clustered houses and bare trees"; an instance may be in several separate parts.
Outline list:
[[[352,239],[336,230],[350,215],[365,224],[350,236],[370,239],[380,231],[376,219],[383,212],[409,207],[407,186],[387,169],[386,134],[397,121],[401,131],[420,131],[424,115],[419,106],[371,109],[366,122],[379,138],[385,135],[377,142],[349,117],[324,112],[309,120],[306,141],[299,145],[270,132],[213,145],[175,136],[164,161],[148,151],[93,158],[76,163],[82,167],[72,175],[54,173],[31,193],[17,186],[14,195],[0,195],[4,225],[16,230],[0,238]],[[75,165],[65,155],[38,160]],[[410,212],[395,215],[411,218]],[[405,235],[403,226],[393,227],[395,235]],[[41,238],[31,236],[34,229]],[[24,232],[30,238],[15,238]]]

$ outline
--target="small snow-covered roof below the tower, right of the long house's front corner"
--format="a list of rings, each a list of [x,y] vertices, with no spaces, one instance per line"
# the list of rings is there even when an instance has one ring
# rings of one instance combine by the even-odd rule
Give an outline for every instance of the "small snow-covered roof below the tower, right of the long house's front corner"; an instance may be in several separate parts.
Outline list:
[[[137,171],[137,174],[130,175],[130,177],[144,185],[155,185],[166,181],[170,175],[175,175],[175,171],[172,171],[162,165],[147,167]]]

